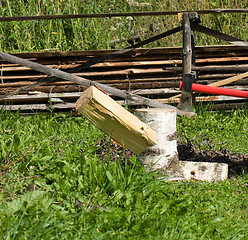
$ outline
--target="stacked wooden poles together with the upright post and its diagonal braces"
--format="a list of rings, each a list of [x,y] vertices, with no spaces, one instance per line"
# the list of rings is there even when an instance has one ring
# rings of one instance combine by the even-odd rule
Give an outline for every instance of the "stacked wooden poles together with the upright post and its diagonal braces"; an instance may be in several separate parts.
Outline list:
[[[242,10],[242,12],[244,11],[246,10]],[[225,11],[219,10],[219,12]],[[3,20],[8,21],[10,19],[0,18],[0,21]],[[146,43],[180,30],[183,31],[183,48],[138,49]],[[193,42],[193,31],[223,39],[232,45],[196,47]],[[149,97],[156,101],[176,104],[180,99],[173,96],[181,93],[179,82],[184,81],[185,73],[193,72],[196,75],[197,83],[212,84],[248,72],[248,43],[201,26],[197,12],[184,12],[182,13],[181,26],[178,28],[119,51],[70,51],[15,55],[54,69],[75,72],[73,74],[94,82]],[[4,59],[0,61],[0,64],[0,104],[5,109],[21,109],[23,111],[47,110],[49,108],[71,110],[74,108],[80,93],[85,89],[80,84],[56,79],[18,92],[20,87],[25,89],[25,86],[39,83],[42,81],[41,79],[46,79],[47,75]],[[237,77],[226,87],[247,90],[248,78],[239,79]],[[13,95],[13,92],[18,94]],[[13,96],[6,95],[10,93]],[[124,103],[124,100],[116,99]],[[247,102],[247,100],[234,97],[205,96],[203,94],[201,96],[196,95],[195,99],[196,102],[212,101],[215,103],[213,106],[215,109],[243,107]]]

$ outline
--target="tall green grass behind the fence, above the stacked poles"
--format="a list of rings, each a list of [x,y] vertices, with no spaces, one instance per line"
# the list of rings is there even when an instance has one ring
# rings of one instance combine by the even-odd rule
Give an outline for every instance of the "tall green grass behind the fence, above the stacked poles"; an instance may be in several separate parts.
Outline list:
[[[241,0],[164,1],[164,0],[2,0],[1,16],[31,16],[53,14],[82,14],[138,11],[173,11],[216,8],[247,8]],[[147,5],[139,5],[140,3]],[[138,4],[137,4],[138,3]],[[247,40],[247,14],[201,15],[207,27]],[[152,28],[151,28],[152,25]],[[126,42],[111,44],[111,40],[130,38],[139,34],[148,38],[178,26],[177,16],[146,16],[0,22],[0,48],[6,52],[95,50],[127,47]],[[196,45],[224,44],[212,37],[196,34]],[[145,47],[182,46],[182,34],[148,44]]]

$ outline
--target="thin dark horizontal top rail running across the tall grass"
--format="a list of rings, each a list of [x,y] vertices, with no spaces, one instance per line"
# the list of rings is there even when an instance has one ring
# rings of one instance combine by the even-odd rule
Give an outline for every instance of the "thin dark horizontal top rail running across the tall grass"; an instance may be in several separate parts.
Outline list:
[[[0,22],[30,21],[30,20],[52,20],[52,19],[73,19],[73,18],[105,18],[105,17],[141,17],[141,16],[163,16],[177,15],[184,12],[197,12],[198,14],[216,13],[247,13],[248,9],[209,9],[209,10],[178,10],[162,12],[124,12],[124,13],[94,13],[94,14],[66,14],[66,15],[37,15],[37,16],[14,16],[0,17]]]

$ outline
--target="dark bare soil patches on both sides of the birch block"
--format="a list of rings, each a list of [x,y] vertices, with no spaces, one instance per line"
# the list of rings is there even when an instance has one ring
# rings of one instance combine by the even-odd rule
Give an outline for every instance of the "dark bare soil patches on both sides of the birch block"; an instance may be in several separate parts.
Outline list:
[[[240,153],[231,153],[227,149],[214,149],[211,143],[208,143],[205,148],[199,150],[199,144],[187,139],[186,142],[178,139],[178,156],[182,161],[196,162],[218,162],[227,163],[229,168],[229,177],[248,173],[248,155]],[[132,157],[133,153],[124,149],[115,142],[109,143],[106,139],[99,141],[95,140],[97,155],[105,161],[114,161],[116,159],[124,162],[125,159]]]

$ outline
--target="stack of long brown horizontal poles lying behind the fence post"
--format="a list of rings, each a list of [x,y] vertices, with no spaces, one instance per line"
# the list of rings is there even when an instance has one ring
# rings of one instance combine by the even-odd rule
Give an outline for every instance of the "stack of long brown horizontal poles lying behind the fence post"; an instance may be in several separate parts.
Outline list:
[[[18,57],[41,63],[56,69],[65,70],[76,67],[94,57],[110,54],[115,50],[71,51],[21,53]],[[195,48],[197,83],[213,82],[248,71],[248,49],[242,47],[204,46]],[[12,92],[21,86],[32,84],[44,75],[26,67],[8,62],[1,63],[0,95]],[[180,93],[182,80],[182,48],[143,48],[135,49],[118,58],[105,61],[83,70],[77,75],[107,84],[118,89],[129,90],[136,94],[149,96],[162,102]],[[248,78],[240,79],[225,87],[248,90]],[[21,109],[71,110],[84,88],[63,80],[37,86],[32,90],[1,99],[1,107],[12,110]],[[196,95],[196,101],[213,101],[214,108],[242,107],[247,100],[233,97]]]

